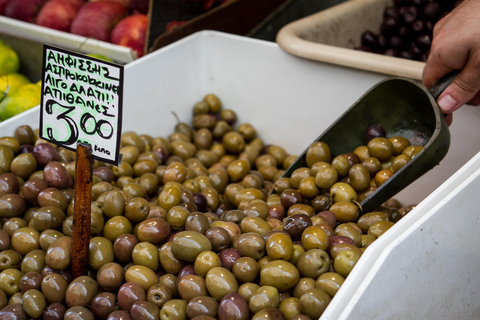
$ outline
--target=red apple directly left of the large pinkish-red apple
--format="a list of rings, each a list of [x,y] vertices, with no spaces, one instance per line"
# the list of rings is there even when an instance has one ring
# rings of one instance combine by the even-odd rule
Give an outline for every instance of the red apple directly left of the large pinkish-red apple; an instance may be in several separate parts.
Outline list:
[[[69,0],[51,0],[38,13],[36,24],[55,30],[70,31],[80,5]]]

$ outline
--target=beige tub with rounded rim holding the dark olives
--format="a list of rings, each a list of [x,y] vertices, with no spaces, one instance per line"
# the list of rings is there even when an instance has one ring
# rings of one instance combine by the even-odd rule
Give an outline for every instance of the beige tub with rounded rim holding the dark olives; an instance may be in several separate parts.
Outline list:
[[[378,32],[383,11],[393,0],[350,0],[284,26],[277,43],[306,59],[422,79],[424,62],[354,50],[366,30]]]

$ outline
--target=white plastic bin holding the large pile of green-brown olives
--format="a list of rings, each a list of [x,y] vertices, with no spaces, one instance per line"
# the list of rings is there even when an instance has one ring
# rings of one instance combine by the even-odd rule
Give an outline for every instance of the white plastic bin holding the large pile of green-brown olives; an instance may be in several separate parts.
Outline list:
[[[266,143],[300,154],[385,77],[300,59],[276,43],[202,31],[125,67],[123,131],[166,136],[177,121],[173,111],[189,122],[194,103],[212,92],[225,108],[235,110],[239,123],[257,128]],[[36,107],[0,123],[0,136],[11,135],[22,124],[36,128],[38,121]],[[400,318],[407,319],[422,318],[417,314],[478,318],[470,316],[478,312],[479,298],[475,266],[480,256],[471,253],[478,251],[479,243],[473,230],[478,221],[474,219],[478,188],[472,181],[478,180],[480,166],[479,122],[480,109],[465,106],[455,113],[445,159],[398,194],[404,204],[419,205],[365,251],[321,319],[340,319],[340,315],[349,320],[398,318],[378,315],[389,309],[403,310]],[[470,183],[474,189],[464,193]],[[442,209],[446,202],[449,206]],[[436,281],[437,285],[424,288],[421,281],[427,278],[428,284]],[[447,288],[450,285],[454,291]],[[421,304],[423,309],[413,309],[412,300],[415,308]]]

